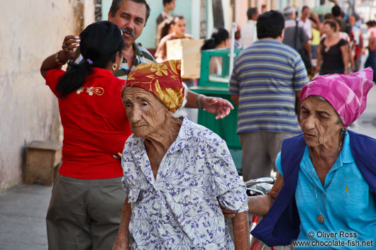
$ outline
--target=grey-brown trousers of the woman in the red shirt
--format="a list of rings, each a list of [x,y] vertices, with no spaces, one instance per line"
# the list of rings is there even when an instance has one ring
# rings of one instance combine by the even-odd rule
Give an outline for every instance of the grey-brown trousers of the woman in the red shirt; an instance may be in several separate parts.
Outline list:
[[[49,250],[111,250],[126,198],[121,177],[57,175],[47,212]]]

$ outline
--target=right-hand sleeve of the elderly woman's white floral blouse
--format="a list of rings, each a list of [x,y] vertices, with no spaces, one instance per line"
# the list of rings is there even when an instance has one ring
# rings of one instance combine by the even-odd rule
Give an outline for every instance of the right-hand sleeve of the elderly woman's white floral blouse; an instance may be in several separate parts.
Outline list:
[[[248,211],[248,195],[245,193],[245,183],[238,176],[238,171],[236,171],[236,166],[226,143],[219,140],[216,146],[209,146],[206,154],[207,164],[212,166],[214,193],[223,208],[237,212]]]

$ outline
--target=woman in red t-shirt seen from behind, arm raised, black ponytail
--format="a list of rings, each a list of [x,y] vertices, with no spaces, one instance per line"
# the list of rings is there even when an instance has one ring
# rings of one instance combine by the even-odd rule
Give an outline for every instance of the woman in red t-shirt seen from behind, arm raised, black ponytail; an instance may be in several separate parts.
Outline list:
[[[61,69],[81,51],[82,62]],[[64,128],[62,165],[47,214],[49,249],[111,249],[118,232],[125,193],[122,152],[131,135],[121,101],[124,81],[118,71],[124,42],[114,23],[89,25],[79,38],[65,37],[63,50],[40,68],[59,101]]]

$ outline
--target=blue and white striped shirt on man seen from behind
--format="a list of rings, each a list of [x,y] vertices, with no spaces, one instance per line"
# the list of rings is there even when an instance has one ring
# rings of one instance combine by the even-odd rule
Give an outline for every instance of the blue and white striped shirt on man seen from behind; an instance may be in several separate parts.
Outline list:
[[[261,39],[236,57],[230,93],[239,96],[238,133],[300,132],[295,91],[309,82],[299,53],[275,39]]]

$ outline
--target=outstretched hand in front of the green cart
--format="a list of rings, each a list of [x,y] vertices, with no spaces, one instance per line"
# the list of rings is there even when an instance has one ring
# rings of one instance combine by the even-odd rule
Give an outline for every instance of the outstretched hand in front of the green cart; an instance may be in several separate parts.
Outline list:
[[[219,97],[202,96],[200,99],[201,107],[209,113],[215,113],[216,119],[225,118],[233,109],[233,105]]]

